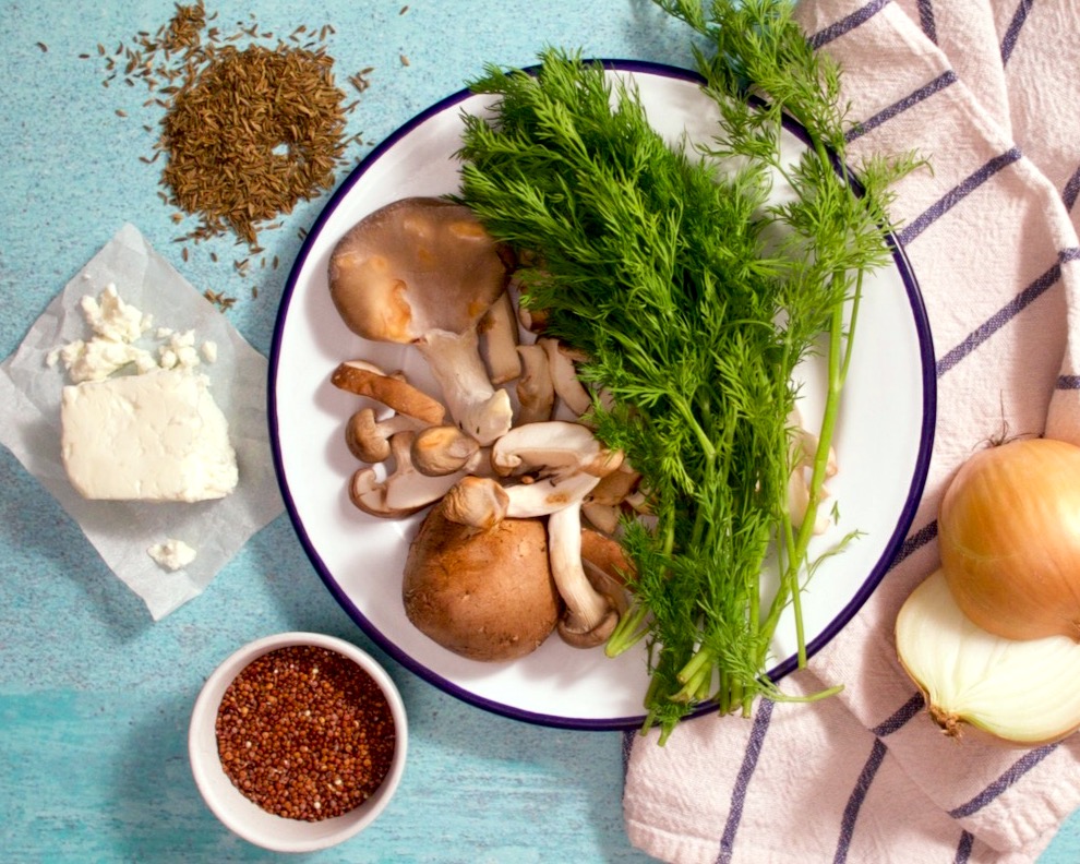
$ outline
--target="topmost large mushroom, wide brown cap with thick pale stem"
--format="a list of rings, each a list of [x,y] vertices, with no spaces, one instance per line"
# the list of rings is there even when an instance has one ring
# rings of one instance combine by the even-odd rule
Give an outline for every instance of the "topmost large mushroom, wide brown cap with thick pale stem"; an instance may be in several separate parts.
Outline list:
[[[488,377],[477,332],[509,274],[468,207],[435,197],[388,204],[338,241],[328,276],[350,329],[417,346],[461,429],[481,444],[509,429],[509,394]]]

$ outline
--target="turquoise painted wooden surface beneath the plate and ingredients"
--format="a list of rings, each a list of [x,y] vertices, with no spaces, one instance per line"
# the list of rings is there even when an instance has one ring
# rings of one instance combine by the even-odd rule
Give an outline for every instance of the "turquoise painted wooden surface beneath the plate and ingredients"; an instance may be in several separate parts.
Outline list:
[[[350,132],[377,142],[484,62],[528,64],[545,45],[686,65],[687,43],[645,0],[263,0],[213,2],[218,24],[287,36],[332,24],[338,79],[374,67]],[[241,278],[227,240],[171,242],[146,165],[158,115],[143,88],[101,85],[109,51],[155,31],[171,3],[0,3],[0,355],[72,274],[134,223],[200,289],[239,298],[233,323],[269,349],[287,267]],[[80,59],[91,53],[89,59]],[[408,65],[403,62],[408,58]],[[121,109],[129,116],[119,117]],[[368,147],[353,149],[360,156]],[[322,202],[263,237],[289,262]],[[209,252],[219,256],[213,262]],[[257,298],[252,297],[257,286]],[[185,752],[203,679],[239,645],[286,629],[352,639],[379,656],[323,588],[290,524],[256,535],[206,592],[161,622],[105,567],[67,514],[0,448],[0,857],[4,862],[263,861],[203,805]],[[458,703],[387,662],[411,718],[399,795],[356,840],[312,862],[633,864],[621,813],[619,733],[542,729]],[[1045,864],[1080,860],[1080,818]]]

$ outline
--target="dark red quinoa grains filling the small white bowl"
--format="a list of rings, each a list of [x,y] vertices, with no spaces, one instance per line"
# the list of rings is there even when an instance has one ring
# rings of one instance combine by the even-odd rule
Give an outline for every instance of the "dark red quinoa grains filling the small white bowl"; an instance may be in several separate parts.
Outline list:
[[[233,785],[263,809],[305,821],[367,801],[396,743],[374,679],[314,646],[279,648],[244,668],[225,692],[216,732]]]

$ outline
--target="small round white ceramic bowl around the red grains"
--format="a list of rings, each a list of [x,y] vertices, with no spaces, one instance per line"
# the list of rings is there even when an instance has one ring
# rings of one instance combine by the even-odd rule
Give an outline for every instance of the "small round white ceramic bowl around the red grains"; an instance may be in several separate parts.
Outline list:
[[[340,816],[303,821],[276,816],[250,801],[221,767],[215,723],[221,698],[232,680],[256,658],[279,648],[307,645],[345,656],[380,686],[394,718],[394,759],[382,784],[363,804]],[[397,790],[405,770],[408,725],[401,695],[386,671],[351,643],[316,633],[281,633],[249,643],[232,653],[206,680],[191,716],[188,749],[195,785],[214,815],[233,833],[275,852],[313,852],[358,835],[377,818]]]

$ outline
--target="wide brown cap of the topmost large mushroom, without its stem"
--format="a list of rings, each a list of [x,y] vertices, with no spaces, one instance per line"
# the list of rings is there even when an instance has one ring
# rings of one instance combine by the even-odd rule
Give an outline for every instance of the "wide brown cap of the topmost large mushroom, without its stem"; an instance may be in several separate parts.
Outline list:
[[[376,341],[465,333],[508,281],[499,245],[472,211],[436,197],[400,199],[365,216],[329,261],[338,313]]]

